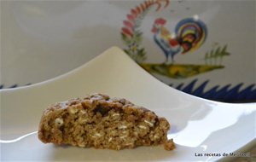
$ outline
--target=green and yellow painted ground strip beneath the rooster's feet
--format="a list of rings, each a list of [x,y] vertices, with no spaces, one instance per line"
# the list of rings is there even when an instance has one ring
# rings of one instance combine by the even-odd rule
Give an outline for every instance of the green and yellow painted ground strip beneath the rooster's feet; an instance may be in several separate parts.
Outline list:
[[[224,68],[224,66],[216,65],[183,65],[183,64],[140,64],[146,71],[150,73],[158,73],[169,78],[189,78],[204,72],[210,72],[215,69]]]

